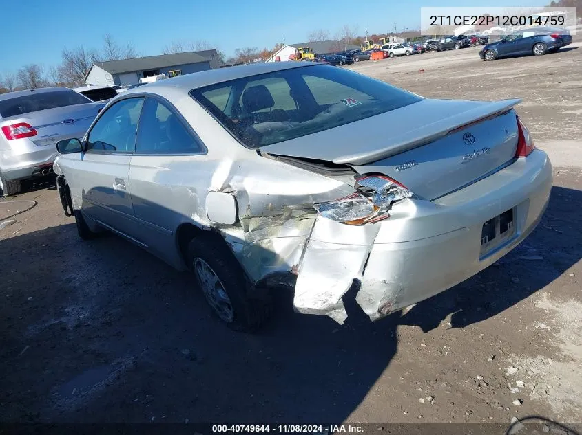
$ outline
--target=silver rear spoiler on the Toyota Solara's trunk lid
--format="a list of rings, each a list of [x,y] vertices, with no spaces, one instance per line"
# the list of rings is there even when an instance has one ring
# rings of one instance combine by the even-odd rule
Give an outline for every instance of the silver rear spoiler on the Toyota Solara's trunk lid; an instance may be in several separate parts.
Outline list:
[[[417,129],[406,131],[406,133],[402,133],[401,135],[386,137],[386,142],[384,142],[382,148],[374,150],[373,153],[367,152],[344,155],[339,159],[333,159],[333,163],[362,165],[380,159],[386,159],[387,157],[404,153],[404,151],[434,142],[449,133],[464,129],[466,126],[495,118],[498,115],[510,111],[520,102],[520,98],[501,100],[490,102],[468,111],[462,111],[457,113],[457,115],[439,119],[430,124],[419,126]]]

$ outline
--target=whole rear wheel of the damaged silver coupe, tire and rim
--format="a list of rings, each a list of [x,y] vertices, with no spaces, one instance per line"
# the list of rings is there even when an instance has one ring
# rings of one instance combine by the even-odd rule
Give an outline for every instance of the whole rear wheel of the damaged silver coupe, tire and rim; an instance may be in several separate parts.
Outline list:
[[[254,294],[224,241],[206,235],[195,237],[188,245],[187,260],[212,311],[229,328],[253,332],[268,320],[270,300]]]

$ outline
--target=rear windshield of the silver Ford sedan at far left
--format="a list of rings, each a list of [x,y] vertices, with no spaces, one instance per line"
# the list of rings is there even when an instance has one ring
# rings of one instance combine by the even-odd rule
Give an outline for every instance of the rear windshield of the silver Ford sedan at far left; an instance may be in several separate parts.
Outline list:
[[[39,110],[72,106],[73,104],[85,104],[87,102],[90,102],[90,100],[87,100],[87,98],[71,89],[53,92],[31,92],[26,96],[0,101],[0,116],[2,118],[9,118],[10,116],[24,115],[25,113]]]

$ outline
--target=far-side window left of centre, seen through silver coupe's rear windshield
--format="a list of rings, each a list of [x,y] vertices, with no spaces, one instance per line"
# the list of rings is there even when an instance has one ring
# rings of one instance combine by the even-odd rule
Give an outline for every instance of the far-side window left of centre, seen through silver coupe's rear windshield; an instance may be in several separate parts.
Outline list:
[[[295,110],[295,102],[289,91],[291,88],[282,77],[251,80],[242,91],[239,104],[245,113]]]

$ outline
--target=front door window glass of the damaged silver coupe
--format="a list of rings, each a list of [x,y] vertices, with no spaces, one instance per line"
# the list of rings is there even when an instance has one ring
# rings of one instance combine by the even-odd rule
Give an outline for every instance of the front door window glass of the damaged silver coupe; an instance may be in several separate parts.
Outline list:
[[[96,122],[87,140],[93,153],[133,153],[143,98],[127,98],[112,105]]]

